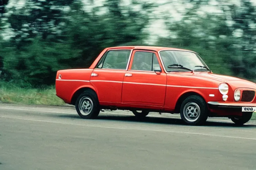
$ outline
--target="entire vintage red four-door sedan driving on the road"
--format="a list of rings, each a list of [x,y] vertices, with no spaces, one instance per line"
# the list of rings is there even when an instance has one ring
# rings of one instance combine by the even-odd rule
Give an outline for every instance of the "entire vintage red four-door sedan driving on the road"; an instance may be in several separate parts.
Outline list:
[[[86,69],[59,70],[56,95],[84,119],[101,109],[180,113],[188,125],[228,117],[243,125],[256,110],[256,84],[212,73],[198,53],[153,46],[105,48]]]

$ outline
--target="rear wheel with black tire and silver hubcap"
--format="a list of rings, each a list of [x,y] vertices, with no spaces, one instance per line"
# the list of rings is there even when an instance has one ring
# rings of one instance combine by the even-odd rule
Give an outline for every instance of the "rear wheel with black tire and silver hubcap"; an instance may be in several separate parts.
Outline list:
[[[90,107],[92,106],[92,107]],[[76,100],[76,111],[83,119],[94,119],[100,113],[99,100],[93,90],[86,90]]]

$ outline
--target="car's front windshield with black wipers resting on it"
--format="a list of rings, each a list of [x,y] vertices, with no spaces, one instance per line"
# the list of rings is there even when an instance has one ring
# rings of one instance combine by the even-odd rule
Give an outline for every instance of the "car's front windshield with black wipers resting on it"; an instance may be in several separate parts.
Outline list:
[[[167,72],[210,71],[201,57],[194,52],[165,50],[160,51],[160,55]]]

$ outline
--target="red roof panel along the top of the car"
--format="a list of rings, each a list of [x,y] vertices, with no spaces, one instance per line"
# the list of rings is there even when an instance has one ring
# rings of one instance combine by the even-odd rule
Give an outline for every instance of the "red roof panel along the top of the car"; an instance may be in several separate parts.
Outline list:
[[[142,49],[142,50],[153,50],[153,51],[160,51],[160,50],[182,50],[182,51],[191,51],[187,49],[182,48],[172,48],[172,47],[162,47],[162,46],[114,46],[114,47],[108,47],[109,49],[119,49],[119,48],[132,48],[132,49]],[[194,51],[191,51],[194,52]]]

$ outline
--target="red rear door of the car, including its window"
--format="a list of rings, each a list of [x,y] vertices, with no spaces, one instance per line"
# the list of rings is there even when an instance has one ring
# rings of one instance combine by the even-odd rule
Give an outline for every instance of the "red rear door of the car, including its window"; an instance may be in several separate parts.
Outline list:
[[[100,102],[121,103],[122,84],[131,49],[108,50],[94,68],[90,82]]]

